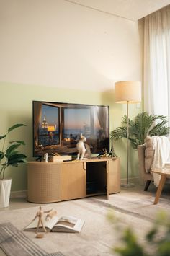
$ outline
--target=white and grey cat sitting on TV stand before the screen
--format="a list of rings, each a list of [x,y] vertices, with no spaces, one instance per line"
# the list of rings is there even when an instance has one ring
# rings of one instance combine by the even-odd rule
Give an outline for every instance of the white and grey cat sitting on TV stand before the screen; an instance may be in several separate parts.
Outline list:
[[[90,155],[90,147],[87,144],[84,144],[84,142],[86,142],[86,137],[83,136],[83,134],[81,133],[80,139],[78,141],[78,143],[76,144],[77,150],[78,150],[78,154],[77,154],[77,158],[76,160],[82,160],[84,159],[84,155],[86,153]],[[86,147],[85,147],[86,145]]]

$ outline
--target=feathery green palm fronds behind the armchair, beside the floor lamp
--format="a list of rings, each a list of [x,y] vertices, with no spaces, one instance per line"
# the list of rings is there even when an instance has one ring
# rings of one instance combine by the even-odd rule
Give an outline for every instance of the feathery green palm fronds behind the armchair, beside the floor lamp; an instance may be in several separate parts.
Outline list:
[[[160,120],[159,123],[156,121]],[[127,138],[126,115],[122,118],[122,126],[116,128],[110,133],[110,137],[117,141],[121,138]],[[134,120],[129,119],[129,140],[133,149],[137,149],[138,145],[143,144],[146,136],[167,136],[170,127],[166,125],[168,118],[164,115],[149,115],[148,112],[139,113]]]

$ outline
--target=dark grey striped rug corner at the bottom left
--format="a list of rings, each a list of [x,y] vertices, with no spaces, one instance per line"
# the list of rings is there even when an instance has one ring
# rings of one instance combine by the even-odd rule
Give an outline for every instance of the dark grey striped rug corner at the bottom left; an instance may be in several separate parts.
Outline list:
[[[0,224],[0,247],[8,256],[64,256],[61,252],[48,254],[11,223]]]

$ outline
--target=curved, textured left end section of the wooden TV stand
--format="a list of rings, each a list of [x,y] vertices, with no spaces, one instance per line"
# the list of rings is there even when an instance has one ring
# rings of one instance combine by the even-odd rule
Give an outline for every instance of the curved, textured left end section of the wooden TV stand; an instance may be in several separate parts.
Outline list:
[[[27,200],[53,203],[61,200],[61,164],[29,162],[27,164]]]

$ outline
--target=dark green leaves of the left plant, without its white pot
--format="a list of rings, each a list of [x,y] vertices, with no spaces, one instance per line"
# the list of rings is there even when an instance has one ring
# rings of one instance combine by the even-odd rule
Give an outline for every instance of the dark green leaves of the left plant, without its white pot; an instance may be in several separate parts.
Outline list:
[[[6,134],[0,136],[0,140],[4,140],[2,144],[2,149],[0,151],[0,178],[4,179],[4,173],[7,167],[14,166],[18,167],[19,163],[26,162],[24,154],[19,153],[16,149],[21,145],[25,145],[24,141],[9,141],[9,146],[6,146],[6,137],[14,129],[25,126],[23,124],[16,124],[10,127]]]

